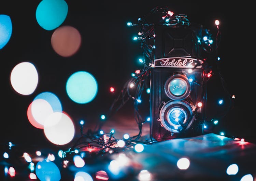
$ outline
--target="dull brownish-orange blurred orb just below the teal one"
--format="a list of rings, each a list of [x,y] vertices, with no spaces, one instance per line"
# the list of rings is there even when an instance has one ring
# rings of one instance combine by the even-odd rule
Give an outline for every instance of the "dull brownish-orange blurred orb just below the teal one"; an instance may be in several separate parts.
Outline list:
[[[74,55],[81,46],[80,32],[72,26],[61,26],[56,29],[51,38],[54,51],[63,57]]]

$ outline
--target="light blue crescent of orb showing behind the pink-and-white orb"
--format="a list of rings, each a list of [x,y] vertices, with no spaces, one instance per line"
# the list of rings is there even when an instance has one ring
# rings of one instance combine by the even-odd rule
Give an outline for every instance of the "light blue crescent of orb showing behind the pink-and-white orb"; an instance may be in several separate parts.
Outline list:
[[[44,99],[47,101],[54,112],[62,112],[62,105],[58,96],[52,92],[42,92],[35,96],[34,101],[37,99]]]

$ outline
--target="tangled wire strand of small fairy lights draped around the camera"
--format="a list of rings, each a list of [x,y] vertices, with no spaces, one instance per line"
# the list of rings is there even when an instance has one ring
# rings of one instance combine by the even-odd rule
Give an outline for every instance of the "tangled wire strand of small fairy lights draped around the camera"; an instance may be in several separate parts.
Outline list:
[[[167,22],[168,21],[168,22]],[[116,96],[114,101],[112,102],[110,109],[107,114],[104,115],[104,120],[101,119],[98,127],[95,129],[96,131],[88,130],[86,134],[83,133],[83,129],[81,126],[81,138],[77,140],[76,144],[68,150],[74,150],[76,147],[79,147],[79,145],[84,144],[84,148],[88,148],[89,145],[94,145],[92,147],[97,147],[97,151],[103,153],[103,152],[110,152],[113,151],[113,149],[119,149],[117,147],[113,147],[113,145],[117,145],[117,142],[119,141],[113,135],[111,136],[111,133],[103,133],[101,130],[103,124],[119,109],[121,109],[128,101],[132,100],[134,103],[134,116],[135,120],[138,124],[139,133],[137,135],[134,135],[132,137],[126,137],[126,139],[121,139],[125,141],[125,147],[129,148],[133,147],[134,144],[153,144],[155,143],[154,139],[146,139],[145,142],[138,141],[141,137],[142,133],[142,126],[145,122],[151,121],[151,117],[145,116],[143,118],[138,109],[138,105],[141,103],[141,96],[143,94],[143,90],[146,90],[146,93],[149,94],[152,92],[152,90],[149,90],[149,83],[150,83],[150,70],[155,67],[155,28],[154,26],[156,24],[161,24],[166,27],[189,27],[191,23],[188,21],[188,17],[186,15],[176,15],[174,16],[173,12],[170,12],[168,8],[154,8],[149,14],[145,15],[143,18],[139,18],[138,22],[133,23],[127,23],[128,26],[136,26],[139,27],[140,31],[138,33],[138,37],[135,38],[140,41],[141,43],[141,49],[143,53],[143,59],[140,59],[139,62],[143,64],[143,68],[141,70],[136,70],[134,73],[131,74],[131,78],[125,82],[123,89],[119,92],[119,94]],[[217,61],[219,60],[219,57],[217,57],[217,49],[221,38],[221,33],[219,31],[219,26],[217,25],[217,36],[215,37],[215,41],[213,41],[212,35],[209,31],[203,31],[201,37],[196,37],[197,43],[200,44],[204,50],[205,53],[207,53],[208,59],[203,58],[201,61],[204,63],[204,65],[207,65],[208,62],[214,62],[217,58]],[[207,37],[207,38],[205,38]],[[216,59],[215,59],[216,58]],[[202,66],[201,62],[193,67],[191,69],[188,69],[188,71],[193,71],[198,68],[198,66]],[[189,74],[189,72],[188,72]],[[211,69],[211,66],[205,66],[203,70],[203,79],[200,82],[197,82],[195,79],[190,78],[189,76],[186,76],[187,74],[184,74],[183,72],[178,72],[177,74],[173,75],[174,77],[177,76],[178,80],[180,82],[185,82],[187,85],[194,84],[197,86],[202,86],[202,83],[205,84],[208,82],[210,77],[212,76],[213,71]],[[184,76],[185,75],[185,76]],[[179,77],[180,76],[180,77]],[[186,78],[181,78],[186,77]],[[114,92],[114,89],[111,89],[111,92]],[[172,92],[167,93],[172,94]],[[169,96],[170,96],[169,95]],[[175,92],[174,92],[175,95]],[[184,105],[184,107],[190,112],[190,116],[187,119],[191,119],[194,115],[197,114],[197,110],[200,109],[199,104],[192,106],[190,104],[187,104],[187,102],[184,102],[184,100],[179,100],[181,102],[181,105]],[[167,105],[173,105],[172,102],[165,103],[165,107],[162,109],[165,109]],[[193,111],[191,111],[191,110]],[[183,110],[181,110],[181,113],[184,113]],[[171,113],[170,113],[171,114]],[[183,129],[187,127],[187,124],[190,122],[186,122],[185,124],[181,124],[181,129],[179,129],[180,132],[184,131]],[[211,119],[207,123],[202,120],[200,123],[198,123],[197,126],[203,127],[205,125],[216,125],[218,123],[217,119]],[[175,125],[173,126],[173,128]],[[182,129],[183,128],[183,129]],[[174,129],[176,130],[176,129]],[[179,132],[178,131],[178,132]],[[125,134],[126,135],[126,134]],[[127,135],[126,135],[127,136]],[[108,138],[108,139],[106,139]],[[110,139],[111,138],[111,139]],[[84,141],[83,139],[87,140]],[[102,140],[104,140],[102,142]],[[88,145],[89,144],[89,145]],[[95,146],[96,145],[96,146]],[[81,146],[79,147],[81,148]],[[123,148],[123,149],[124,149]],[[130,148],[129,148],[130,149]]]

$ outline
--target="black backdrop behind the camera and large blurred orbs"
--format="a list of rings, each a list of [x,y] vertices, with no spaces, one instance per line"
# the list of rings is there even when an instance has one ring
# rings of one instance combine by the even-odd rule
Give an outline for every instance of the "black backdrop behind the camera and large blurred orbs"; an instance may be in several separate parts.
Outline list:
[[[66,2],[68,15],[60,26],[73,26],[82,36],[79,51],[71,57],[61,57],[55,53],[51,46],[54,30],[44,30],[37,23],[35,11],[39,0],[0,2],[0,14],[9,15],[13,25],[10,41],[0,50],[1,145],[12,142],[21,146],[55,146],[45,138],[42,129],[33,127],[27,119],[29,104],[36,95],[45,91],[53,92],[60,98],[63,111],[71,116],[76,128],[79,128],[81,119],[86,121],[85,129],[90,129],[97,123],[100,115],[108,112],[131,73],[142,68],[137,61],[142,56],[140,43],[132,40],[137,35],[138,28],[128,27],[126,23],[136,22],[156,6],[168,6],[174,15],[186,14],[190,22],[201,24],[212,32],[216,32],[215,19],[220,21],[220,70],[225,79],[225,88],[236,98],[234,108],[228,112],[227,105],[218,106],[219,98],[224,98],[225,104],[228,104],[228,97],[219,76],[213,72],[208,82],[206,118],[221,118],[213,130],[217,134],[224,131],[227,137],[240,137],[245,138],[245,141],[255,142],[255,98],[251,93],[255,87],[252,50],[255,46],[251,39],[254,33],[251,24],[254,19],[252,12],[248,10],[248,4],[222,4],[222,1]],[[33,63],[39,72],[38,87],[33,94],[27,96],[19,95],[10,85],[11,70],[23,61]],[[90,72],[98,82],[95,99],[82,105],[72,102],[65,90],[68,77],[80,70]],[[115,87],[115,93],[109,92],[111,86]],[[145,94],[140,105],[142,117],[148,116],[150,111],[147,101],[149,97],[146,96],[149,95]],[[115,125],[122,125],[122,121],[128,120],[137,129],[132,101],[121,108],[117,115],[111,118],[113,128],[118,130]],[[76,129],[76,137],[79,137],[79,129]]]

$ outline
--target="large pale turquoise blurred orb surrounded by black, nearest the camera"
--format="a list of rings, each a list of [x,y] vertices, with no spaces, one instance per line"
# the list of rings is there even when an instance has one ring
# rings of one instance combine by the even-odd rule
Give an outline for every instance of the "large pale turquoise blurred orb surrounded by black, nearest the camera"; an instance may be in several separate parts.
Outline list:
[[[98,92],[98,83],[90,73],[78,71],[68,78],[66,91],[72,101],[86,104],[95,98]]]

